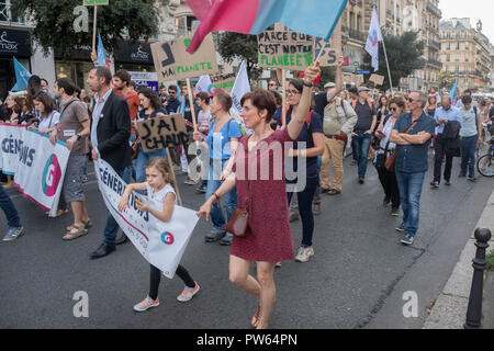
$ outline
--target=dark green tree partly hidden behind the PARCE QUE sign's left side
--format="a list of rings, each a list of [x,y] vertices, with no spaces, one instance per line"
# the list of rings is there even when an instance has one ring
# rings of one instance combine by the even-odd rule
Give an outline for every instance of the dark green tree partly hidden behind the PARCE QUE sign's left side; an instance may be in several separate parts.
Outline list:
[[[225,61],[232,64],[235,58],[245,60],[250,80],[259,79],[262,69],[257,65],[256,35],[223,32],[217,34],[217,52]]]

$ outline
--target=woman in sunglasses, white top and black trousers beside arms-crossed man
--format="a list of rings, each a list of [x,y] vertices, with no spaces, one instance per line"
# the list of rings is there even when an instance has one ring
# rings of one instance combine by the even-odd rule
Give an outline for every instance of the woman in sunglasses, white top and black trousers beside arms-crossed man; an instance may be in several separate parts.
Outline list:
[[[396,145],[390,141],[391,131],[394,128],[394,123],[401,114],[405,113],[405,100],[402,98],[393,98],[390,100],[391,115],[382,118],[379,124],[375,136],[381,139],[380,148],[375,151],[374,166],[384,190],[383,205],[388,206],[391,202],[391,215],[400,216],[400,191],[396,181],[396,174],[390,172],[384,163],[393,152]]]

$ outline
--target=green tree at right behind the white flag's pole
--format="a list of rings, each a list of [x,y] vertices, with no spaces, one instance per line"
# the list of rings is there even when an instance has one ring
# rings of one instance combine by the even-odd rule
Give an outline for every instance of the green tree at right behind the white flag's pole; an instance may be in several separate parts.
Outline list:
[[[384,31],[383,31],[384,33]],[[418,41],[418,32],[405,32],[402,35],[383,34],[390,64],[393,88],[397,88],[402,78],[408,77],[413,71],[425,67],[424,41]],[[371,56],[366,53],[363,66],[373,72]],[[379,44],[379,70],[375,72],[384,76],[383,89],[390,89],[388,66],[382,44]]]

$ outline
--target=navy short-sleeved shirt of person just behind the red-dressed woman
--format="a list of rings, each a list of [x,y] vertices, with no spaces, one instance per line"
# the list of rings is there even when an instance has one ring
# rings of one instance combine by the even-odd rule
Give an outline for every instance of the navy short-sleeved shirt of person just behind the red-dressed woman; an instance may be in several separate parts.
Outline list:
[[[273,120],[277,121],[278,125],[280,125],[280,126],[282,125],[281,124],[281,109],[278,109],[278,111],[274,113]],[[290,123],[291,120],[292,120],[292,111],[290,110],[287,112],[287,125]],[[306,143],[306,149],[311,149],[311,148],[315,147],[314,137],[313,137],[314,133],[324,133],[323,117],[316,112],[312,112],[310,124],[304,123],[304,126],[302,127],[302,131],[299,134],[297,141]],[[297,148],[299,148],[297,143],[294,143],[293,149],[297,149]],[[307,176],[317,174],[317,172],[318,172],[317,156],[316,157],[307,157],[306,167],[307,167]],[[293,160],[293,171],[294,172],[297,171],[296,157]]]

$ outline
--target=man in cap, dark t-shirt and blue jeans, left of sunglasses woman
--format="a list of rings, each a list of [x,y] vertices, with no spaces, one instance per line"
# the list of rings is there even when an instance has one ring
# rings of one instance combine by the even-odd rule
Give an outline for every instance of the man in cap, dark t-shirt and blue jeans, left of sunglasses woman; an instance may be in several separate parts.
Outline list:
[[[360,87],[358,90],[359,99],[351,103],[357,113],[357,123],[351,133],[351,146],[353,152],[356,152],[353,158],[359,165],[360,184],[363,184],[366,180],[369,148],[378,123],[378,111],[374,102],[369,99],[369,88]]]

